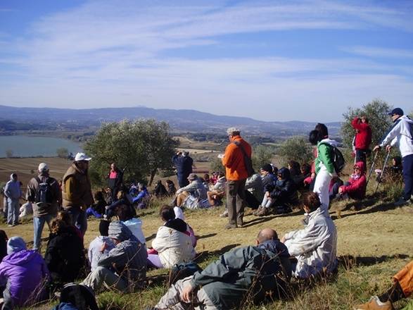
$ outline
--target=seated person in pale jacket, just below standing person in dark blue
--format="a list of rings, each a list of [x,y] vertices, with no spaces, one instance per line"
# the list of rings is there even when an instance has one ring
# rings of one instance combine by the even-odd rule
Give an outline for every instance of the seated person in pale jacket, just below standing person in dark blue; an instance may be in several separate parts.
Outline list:
[[[177,206],[184,206],[187,209],[198,209],[202,207],[199,202],[208,199],[207,190],[200,178],[195,173],[188,176],[189,185],[177,190]]]

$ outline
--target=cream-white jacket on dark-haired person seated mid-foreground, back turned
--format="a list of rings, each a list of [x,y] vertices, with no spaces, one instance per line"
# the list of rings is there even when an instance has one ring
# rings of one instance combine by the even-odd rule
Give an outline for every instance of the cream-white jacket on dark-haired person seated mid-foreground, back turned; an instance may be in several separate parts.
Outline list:
[[[152,241],[152,247],[158,251],[164,268],[172,268],[176,263],[191,261],[196,255],[189,235],[166,226],[160,226]]]

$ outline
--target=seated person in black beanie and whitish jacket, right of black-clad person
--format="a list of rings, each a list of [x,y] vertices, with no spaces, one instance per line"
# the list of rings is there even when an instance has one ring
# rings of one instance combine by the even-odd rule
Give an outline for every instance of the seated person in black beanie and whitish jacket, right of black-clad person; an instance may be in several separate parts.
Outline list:
[[[89,244],[89,250],[87,251],[87,256],[89,258],[90,270],[94,271],[98,266],[98,261],[101,258],[102,254],[107,254],[111,249],[115,247],[112,239],[108,237],[109,231],[109,221],[101,220],[99,223],[99,232],[100,236],[94,238]],[[106,247],[101,251],[103,243],[106,243]]]

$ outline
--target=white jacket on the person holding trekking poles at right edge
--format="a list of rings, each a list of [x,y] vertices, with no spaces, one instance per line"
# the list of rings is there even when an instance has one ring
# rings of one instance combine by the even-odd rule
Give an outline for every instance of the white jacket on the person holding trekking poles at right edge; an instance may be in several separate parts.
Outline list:
[[[384,147],[387,144],[392,147],[398,144],[402,157],[413,154],[413,120],[408,116],[400,116],[380,146]]]

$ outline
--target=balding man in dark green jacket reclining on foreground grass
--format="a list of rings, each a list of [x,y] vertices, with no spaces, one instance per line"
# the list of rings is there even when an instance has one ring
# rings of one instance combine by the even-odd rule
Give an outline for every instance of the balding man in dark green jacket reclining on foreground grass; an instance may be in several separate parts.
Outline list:
[[[203,271],[178,280],[152,309],[240,309],[246,299],[258,303],[286,292],[291,266],[288,250],[277,233],[265,228],[255,246],[240,247],[220,256]],[[284,273],[286,271],[286,273]]]

